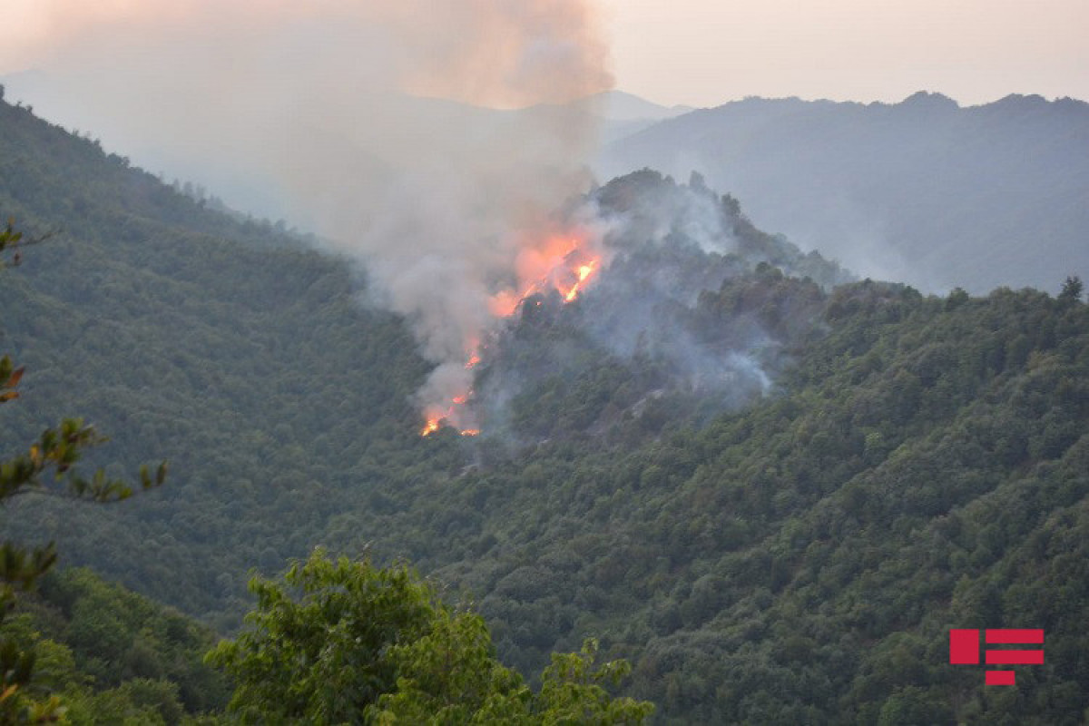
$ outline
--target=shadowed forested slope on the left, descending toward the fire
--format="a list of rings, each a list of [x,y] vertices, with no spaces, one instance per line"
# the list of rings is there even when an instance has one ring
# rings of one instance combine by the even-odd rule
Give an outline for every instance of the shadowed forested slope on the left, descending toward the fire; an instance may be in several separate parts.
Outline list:
[[[57,232],[0,286],[4,348],[26,367],[0,443],[81,411],[112,439],[89,464],[118,476],[111,462],[155,456],[178,472],[106,512],[16,502],[0,513],[12,537],[229,627],[249,568],[278,570],[341,513],[381,507],[376,482],[460,466],[455,445],[420,446],[411,395],[427,366],[400,321],[358,305],[345,264],[2,103],[0,208],[28,236]]]

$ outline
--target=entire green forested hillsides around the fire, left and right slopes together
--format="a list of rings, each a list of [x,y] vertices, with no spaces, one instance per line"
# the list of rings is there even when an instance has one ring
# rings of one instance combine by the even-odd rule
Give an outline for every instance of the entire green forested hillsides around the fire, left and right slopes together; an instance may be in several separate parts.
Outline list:
[[[3,446],[78,413],[102,462],[171,465],[4,531],[223,635],[248,568],[370,543],[475,600],[523,674],[599,637],[660,723],[1080,723],[1079,283],[927,297],[846,282],[698,177],[591,197],[625,222],[607,273],[493,342],[490,432],[420,438],[428,367],[362,272],[0,104],[0,209],[62,230],[0,285],[27,367]],[[1043,628],[1045,664],[984,690],[953,627]]]

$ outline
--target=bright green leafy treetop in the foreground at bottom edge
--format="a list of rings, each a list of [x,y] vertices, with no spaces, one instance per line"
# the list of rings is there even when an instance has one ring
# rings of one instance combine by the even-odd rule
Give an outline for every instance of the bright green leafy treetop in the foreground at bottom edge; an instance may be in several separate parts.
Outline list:
[[[640,724],[653,710],[608,694],[629,666],[594,667],[596,641],[553,655],[535,693],[495,659],[484,619],[451,610],[406,565],[319,549],[282,581],[249,587],[249,629],[208,654],[235,679],[243,723]]]

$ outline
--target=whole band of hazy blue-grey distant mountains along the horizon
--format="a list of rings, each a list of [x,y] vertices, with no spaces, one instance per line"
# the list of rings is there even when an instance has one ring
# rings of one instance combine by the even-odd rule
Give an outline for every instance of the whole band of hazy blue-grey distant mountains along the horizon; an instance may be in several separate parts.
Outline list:
[[[7,83],[10,97],[37,99],[65,125],[99,130],[137,163],[307,229],[341,212],[344,180],[354,198],[375,199],[397,175],[388,144],[314,127],[294,136],[302,140],[296,156],[322,160],[316,167],[329,173],[309,181],[330,190],[301,200],[264,160],[268,138],[249,150],[230,145],[217,155],[206,146],[193,153],[192,144],[162,144],[132,120],[108,118],[109,107],[75,108],[44,74]],[[741,199],[762,229],[860,275],[925,292],[1006,285],[1054,293],[1067,275],[1089,278],[1089,104],[1078,100],[1010,96],[962,108],[920,91],[893,104],[748,98],[693,110],[607,91],[566,107],[512,111],[404,96],[372,100],[379,115],[396,120],[399,138],[415,139],[405,140],[413,150],[443,139],[433,143],[436,153],[450,139],[472,145],[505,135],[517,146],[536,130],[597,124],[603,146],[594,171],[602,182],[644,167],[677,180],[699,171],[711,187]]]

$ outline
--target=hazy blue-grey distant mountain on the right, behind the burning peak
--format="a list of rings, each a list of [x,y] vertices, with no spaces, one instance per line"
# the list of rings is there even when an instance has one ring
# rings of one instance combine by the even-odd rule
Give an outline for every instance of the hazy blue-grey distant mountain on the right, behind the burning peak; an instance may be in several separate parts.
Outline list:
[[[926,291],[1089,276],[1089,104],[1073,99],[750,98],[615,140],[597,164],[643,167],[697,170],[759,226]]]

